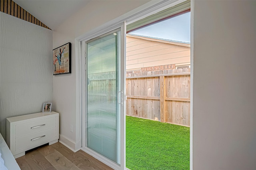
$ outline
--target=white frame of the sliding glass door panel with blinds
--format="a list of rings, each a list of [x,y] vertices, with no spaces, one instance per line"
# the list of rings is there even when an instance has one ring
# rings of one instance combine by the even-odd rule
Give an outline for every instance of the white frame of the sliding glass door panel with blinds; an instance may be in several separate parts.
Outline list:
[[[84,56],[81,58],[81,80],[82,80],[82,93],[81,93],[81,97],[82,97],[82,100],[81,100],[81,106],[82,106],[82,121],[81,121],[81,125],[82,125],[82,134],[81,134],[81,137],[82,137],[82,150],[84,150],[85,152],[87,152],[88,154],[91,154],[93,157],[97,158],[98,160],[100,160],[101,162],[104,162],[105,164],[107,164],[108,166],[110,166],[111,168],[115,169],[115,170],[124,170],[125,169],[125,101],[123,101],[123,106],[120,106],[121,108],[121,115],[120,115],[120,123],[121,123],[121,129],[120,129],[120,138],[121,138],[121,144],[120,144],[120,151],[121,151],[121,166],[118,166],[116,163],[114,163],[112,160],[109,160],[108,158],[105,158],[104,156],[98,154],[97,152],[94,152],[93,150],[91,150],[90,148],[86,147],[86,139],[85,139],[85,134],[86,134],[86,125],[85,125],[85,122],[83,120],[86,120],[86,106],[85,106],[85,103],[86,103],[86,96],[85,94],[87,93],[86,92],[86,82],[87,82],[87,79],[85,77],[85,69],[86,69],[86,54],[85,54],[85,45],[86,45],[86,41],[87,40],[91,40],[93,38],[96,38],[98,36],[101,36],[103,34],[107,34],[108,32],[111,32],[113,30],[116,30],[120,28],[121,29],[121,90],[125,90],[125,86],[126,86],[126,83],[125,83],[125,78],[126,78],[126,74],[125,74],[125,66],[126,66],[126,60],[125,60],[125,53],[126,53],[126,22],[122,22],[121,24],[118,24],[116,26],[113,26],[111,28],[108,28],[102,32],[98,32],[97,34],[94,34],[93,36],[90,36],[88,38],[85,38],[84,40],[82,40],[82,53],[84,54]],[[122,67],[123,66],[123,67]],[[124,88],[122,88],[124,87]],[[125,93],[123,93],[123,96],[122,98],[124,99],[124,95]]]

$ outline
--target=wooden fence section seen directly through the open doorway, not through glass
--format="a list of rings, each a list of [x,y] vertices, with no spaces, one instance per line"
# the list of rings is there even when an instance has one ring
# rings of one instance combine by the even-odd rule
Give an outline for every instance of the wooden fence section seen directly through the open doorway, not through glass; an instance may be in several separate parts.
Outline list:
[[[126,115],[190,126],[190,68],[126,75]]]

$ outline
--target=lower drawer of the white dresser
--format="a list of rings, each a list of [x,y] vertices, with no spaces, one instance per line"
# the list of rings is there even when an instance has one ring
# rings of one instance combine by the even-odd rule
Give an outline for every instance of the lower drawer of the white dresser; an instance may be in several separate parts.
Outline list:
[[[16,138],[16,151],[56,137],[56,128],[50,128]]]

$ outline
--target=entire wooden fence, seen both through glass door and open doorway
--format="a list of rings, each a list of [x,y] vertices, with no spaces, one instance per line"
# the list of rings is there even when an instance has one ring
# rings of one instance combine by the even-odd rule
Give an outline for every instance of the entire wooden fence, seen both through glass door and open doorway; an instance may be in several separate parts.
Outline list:
[[[112,112],[116,104],[116,72],[88,75],[88,104]],[[190,126],[190,68],[126,75],[126,115]]]

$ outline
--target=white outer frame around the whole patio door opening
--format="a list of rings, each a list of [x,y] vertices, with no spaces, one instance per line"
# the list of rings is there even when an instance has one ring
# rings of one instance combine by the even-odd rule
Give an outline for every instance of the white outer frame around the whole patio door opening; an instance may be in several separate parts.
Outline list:
[[[85,94],[85,81],[83,81],[83,77],[82,77],[82,72],[84,72],[85,70],[85,58],[84,58],[84,44],[83,42],[86,40],[90,40],[92,38],[95,38],[97,35],[99,35],[100,32],[109,32],[112,30],[114,30],[116,27],[112,28],[111,25],[117,25],[118,23],[127,21],[127,24],[130,24],[132,22],[135,22],[137,20],[140,20],[142,18],[145,18],[147,16],[150,16],[151,14],[154,14],[156,12],[159,12],[161,10],[164,10],[166,8],[169,8],[171,6],[174,6],[176,4],[179,4],[181,2],[184,2],[185,0],[162,0],[162,1],[150,1],[114,20],[111,20],[110,22],[107,22],[106,24],[103,24],[102,26],[99,26],[97,28],[95,28],[94,30],[87,32],[86,34],[79,36],[75,39],[75,54],[76,54],[76,100],[78,102],[76,102],[76,109],[78,110],[78,112],[80,113],[80,117],[77,118],[80,119],[80,121],[78,120],[77,122],[80,122],[80,130],[81,129],[85,129],[84,125],[81,123],[83,119],[83,114],[82,111],[85,110],[84,106],[83,106],[83,102],[84,99],[82,97],[81,94]],[[191,0],[191,94],[190,96],[193,96],[193,68],[194,68],[194,64],[193,64],[193,60],[194,60],[194,56],[193,56],[193,42],[194,42],[194,36],[193,36],[193,28],[194,28],[194,0]],[[107,29],[108,28],[108,29]],[[125,28],[126,29],[126,28]],[[125,75],[125,74],[124,74]],[[190,100],[190,170],[192,170],[192,126],[193,126],[193,109],[192,109],[192,105],[193,105],[193,98],[191,97]],[[121,122],[122,123],[122,122]],[[82,148],[82,143],[85,141],[85,137],[84,134],[82,132],[82,130],[80,131],[80,140],[81,140],[81,148]],[[125,135],[125,133],[124,133]],[[125,137],[125,136],[124,136]],[[122,136],[121,136],[122,138]],[[125,141],[124,141],[125,142]],[[125,147],[125,145],[123,146],[123,148]],[[125,149],[125,148],[124,148]],[[86,150],[85,150],[86,151]],[[87,151],[86,151],[87,152]],[[89,152],[88,152],[89,153]],[[98,160],[104,162],[104,160],[102,158],[97,158]],[[125,160],[125,157],[123,158]],[[106,162],[104,162],[106,164]],[[108,165],[110,166],[110,165]],[[112,167],[112,166],[110,166]],[[112,167],[114,169],[116,169],[115,167]]]

